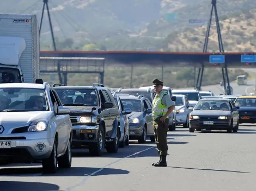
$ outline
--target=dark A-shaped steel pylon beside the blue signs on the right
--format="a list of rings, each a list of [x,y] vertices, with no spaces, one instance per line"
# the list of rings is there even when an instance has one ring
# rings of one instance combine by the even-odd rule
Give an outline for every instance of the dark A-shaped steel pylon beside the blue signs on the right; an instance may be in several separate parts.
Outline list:
[[[203,52],[204,53],[207,52],[210,29],[211,29],[212,14],[214,12],[215,13],[216,27],[217,27],[217,34],[218,34],[218,47],[219,47],[220,53],[224,53],[224,47],[223,47],[222,36],[221,36],[220,21],[218,19],[218,12],[217,12],[217,7],[216,7],[216,0],[211,0],[211,4],[212,4],[212,6],[211,6],[210,18],[209,18],[208,27],[207,27],[207,30],[206,30]],[[225,68],[225,70],[224,70],[224,68]],[[227,94],[230,95],[231,91],[230,91],[227,63],[225,63],[224,68],[222,67],[224,90],[227,90],[228,91]],[[203,75],[204,75],[204,66],[202,68],[199,68],[199,72],[198,72],[197,87],[199,89],[202,86]],[[227,78],[227,81],[226,81],[225,77]],[[199,78],[200,78],[200,81],[199,81]],[[198,85],[198,81],[199,81],[199,85]],[[228,88],[227,88],[226,82],[228,84]]]

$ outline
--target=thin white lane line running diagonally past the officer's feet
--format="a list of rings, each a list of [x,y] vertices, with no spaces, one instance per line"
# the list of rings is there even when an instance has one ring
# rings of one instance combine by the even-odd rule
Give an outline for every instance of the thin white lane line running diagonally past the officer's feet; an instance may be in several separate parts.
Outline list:
[[[174,139],[181,139],[181,138],[183,138],[183,137],[174,138]],[[169,142],[171,142],[171,141],[168,141],[167,143],[169,143]],[[99,170],[94,171],[94,172],[91,173],[91,174],[84,174],[84,176],[86,176],[86,177],[84,177],[84,178],[81,180],[80,183],[77,183],[77,184],[75,184],[74,186],[71,186],[71,187],[69,187],[69,188],[66,188],[65,191],[71,191],[71,189],[74,189],[74,188],[76,188],[76,187],[78,187],[78,186],[81,186],[84,182],[86,182],[86,180],[87,180],[90,176],[94,176],[95,174],[99,173],[100,171],[104,170],[106,167],[108,167],[108,166],[110,166],[110,165],[112,165],[112,164],[118,163],[118,162],[120,162],[120,161],[123,161],[123,160],[126,159],[126,158],[130,158],[130,157],[132,157],[132,156],[141,154],[142,152],[145,152],[145,151],[150,150],[150,149],[153,149],[153,148],[156,148],[156,146],[153,146],[153,147],[150,147],[150,148],[148,148],[148,149],[144,149],[144,150],[135,152],[135,153],[133,153],[133,154],[131,154],[131,155],[129,155],[129,156],[126,156],[126,157],[124,157],[124,158],[120,158],[119,160],[114,161],[114,162],[112,162],[112,163],[109,163],[109,164],[105,165],[104,167],[100,168]]]

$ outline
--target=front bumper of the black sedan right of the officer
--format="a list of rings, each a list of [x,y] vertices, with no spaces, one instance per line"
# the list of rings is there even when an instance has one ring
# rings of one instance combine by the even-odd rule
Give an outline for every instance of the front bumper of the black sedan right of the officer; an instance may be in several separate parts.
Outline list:
[[[206,130],[222,130],[227,129],[230,126],[230,119],[227,120],[214,120],[213,125],[204,125],[203,120],[191,120],[190,119],[190,128],[193,129],[206,129]]]

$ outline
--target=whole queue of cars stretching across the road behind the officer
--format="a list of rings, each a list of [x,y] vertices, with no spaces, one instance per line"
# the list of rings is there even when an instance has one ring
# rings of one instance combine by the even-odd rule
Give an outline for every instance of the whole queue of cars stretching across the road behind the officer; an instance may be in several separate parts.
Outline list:
[[[202,98],[197,90],[163,90],[175,101],[169,131],[182,125],[190,132],[237,132],[240,123],[256,122],[255,96],[229,99],[210,93]],[[46,173],[56,173],[57,167],[71,167],[72,148],[88,148],[90,155],[100,156],[105,149],[118,152],[130,140],[155,142],[154,97],[150,87],[111,92],[96,83],[1,84],[0,164],[41,162]]]

